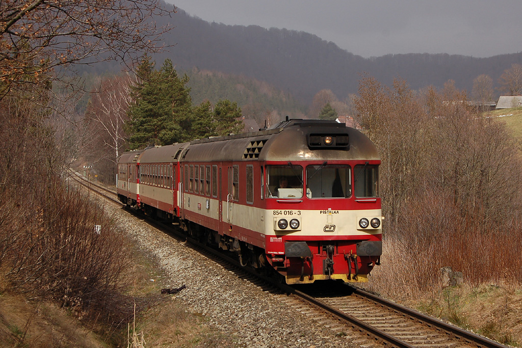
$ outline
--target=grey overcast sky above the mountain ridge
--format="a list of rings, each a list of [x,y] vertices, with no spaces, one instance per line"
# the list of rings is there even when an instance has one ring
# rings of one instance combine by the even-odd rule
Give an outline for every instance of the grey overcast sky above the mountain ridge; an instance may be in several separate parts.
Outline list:
[[[363,57],[522,51],[522,0],[167,0],[227,25],[305,31]],[[175,18],[175,17],[174,17]]]

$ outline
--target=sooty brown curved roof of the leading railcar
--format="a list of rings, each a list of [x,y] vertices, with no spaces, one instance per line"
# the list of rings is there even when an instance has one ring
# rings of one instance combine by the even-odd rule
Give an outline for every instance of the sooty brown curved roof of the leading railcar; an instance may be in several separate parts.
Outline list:
[[[331,136],[334,145],[317,138]],[[337,143],[336,143],[337,141]],[[379,160],[376,147],[360,131],[335,121],[290,119],[254,133],[191,141],[187,161]]]

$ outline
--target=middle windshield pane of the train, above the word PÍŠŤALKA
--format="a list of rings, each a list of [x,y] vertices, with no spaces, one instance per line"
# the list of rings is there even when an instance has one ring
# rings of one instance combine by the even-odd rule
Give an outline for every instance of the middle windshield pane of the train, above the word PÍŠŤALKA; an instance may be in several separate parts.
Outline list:
[[[306,197],[348,198],[352,195],[348,165],[309,165],[306,167]]]

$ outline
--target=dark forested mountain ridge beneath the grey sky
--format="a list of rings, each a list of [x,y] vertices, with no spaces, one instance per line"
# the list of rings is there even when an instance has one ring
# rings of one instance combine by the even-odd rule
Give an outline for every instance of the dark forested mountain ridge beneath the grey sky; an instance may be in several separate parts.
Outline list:
[[[487,74],[496,83],[513,63],[522,64],[522,53],[489,58],[427,53],[363,58],[305,32],[209,23],[182,9],[170,20],[175,28],[165,42],[175,45],[156,55],[158,62],[169,57],[178,70],[197,67],[252,77],[306,104],[321,89],[331,89],[339,99],[346,99],[357,93],[363,73],[387,85],[400,77],[412,89],[442,87],[452,79],[457,88],[471,92],[477,76]]]

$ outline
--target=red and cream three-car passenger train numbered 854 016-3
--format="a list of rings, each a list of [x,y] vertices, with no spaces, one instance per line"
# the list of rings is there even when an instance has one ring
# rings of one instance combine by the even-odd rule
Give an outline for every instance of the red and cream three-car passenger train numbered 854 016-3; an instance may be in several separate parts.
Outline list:
[[[117,195],[287,284],[366,282],[382,254],[380,164],[361,131],[287,117],[254,133],[125,152]]]

